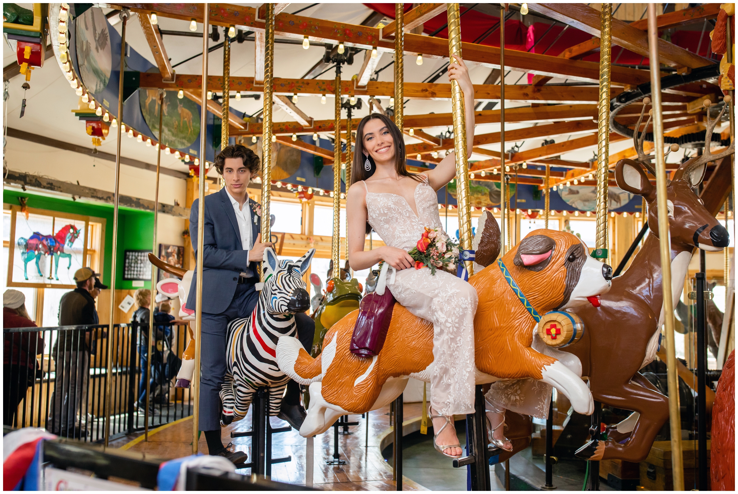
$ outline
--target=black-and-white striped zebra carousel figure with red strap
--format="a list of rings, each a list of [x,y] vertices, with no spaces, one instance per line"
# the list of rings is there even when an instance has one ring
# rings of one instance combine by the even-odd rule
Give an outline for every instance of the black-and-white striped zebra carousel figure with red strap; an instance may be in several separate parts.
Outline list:
[[[227,327],[225,383],[221,387],[221,425],[246,417],[258,388],[269,388],[269,415],[280,413],[289,377],[277,366],[277,341],[297,336],[294,314],[310,308],[303,275],[315,254],[311,248],[300,259],[279,260],[272,248],[264,251],[264,285],[259,301],[244,319]]]

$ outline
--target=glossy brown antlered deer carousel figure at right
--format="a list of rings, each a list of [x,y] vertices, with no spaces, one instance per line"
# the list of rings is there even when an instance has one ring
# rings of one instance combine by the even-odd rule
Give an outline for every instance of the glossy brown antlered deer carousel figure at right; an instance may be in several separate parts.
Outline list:
[[[716,199],[707,195],[703,201],[694,193],[694,188],[703,181],[708,162],[730,167],[728,156],[734,153],[733,142],[721,153],[710,153],[712,131],[727,106],[723,106],[717,118],[708,117],[705,152],[680,164],[667,182],[675,306],[680,299],[694,249],[717,252],[730,242],[728,231],[715,218],[720,204],[725,201],[724,196]],[[641,110],[636,129],[640,128],[645,109],[646,105]],[[646,128],[648,125],[646,123]],[[595,400],[634,413],[623,422],[608,427],[607,440],[593,439],[582,446],[576,454],[584,459],[643,462],[656,434],[669,418],[669,398],[658,392],[639,372],[656,357],[664,321],[656,189],[646,175],[646,171],[655,175],[655,168],[653,156],[646,156],[643,150],[644,133],[640,139],[638,132],[634,133],[638,159],[618,161],[615,181],[621,189],[641,195],[646,200],[649,235],[630,268],[613,279],[613,288],[602,297],[601,307],[596,310],[578,307],[574,310],[584,321],[587,333],[576,344],[564,349],[581,361],[583,375],[589,377],[590,391]],[[711,211],[706,208],[706,202],[711,203]]]

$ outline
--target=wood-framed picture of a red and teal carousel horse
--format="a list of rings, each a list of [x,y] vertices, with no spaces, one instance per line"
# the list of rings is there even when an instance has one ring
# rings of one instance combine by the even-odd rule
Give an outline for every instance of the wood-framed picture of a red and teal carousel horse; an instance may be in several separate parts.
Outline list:
[[[7,286],[77,288],[86,265],[89,216],[13,206],[10,212]]]

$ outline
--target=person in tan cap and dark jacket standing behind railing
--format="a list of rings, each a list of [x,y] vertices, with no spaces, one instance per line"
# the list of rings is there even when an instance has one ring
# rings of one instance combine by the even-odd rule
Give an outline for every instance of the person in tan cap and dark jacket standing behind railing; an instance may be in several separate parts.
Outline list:
[[[59,303],[59,325],[77,326],[83,324],[100,324],[94,297],[100,290],[107,288],[97,279],[91,268],[79,268],[75,271],[75,290],[64,293]],[[98,285],[99,284],[99,285]],[[100,288],[96,288],[100,287]],[[49,409],[49,431],[65,437],[81,438],[86,436],[80,425],[75,424],[81,398],[87,388],[89,378],[89,361],[91,335],[94,328],[85,330],[60,331],[52,349],[52,358],[56,362],[57,382],[65,383],[63,389],[55,389],[52,394],[52,406]]]

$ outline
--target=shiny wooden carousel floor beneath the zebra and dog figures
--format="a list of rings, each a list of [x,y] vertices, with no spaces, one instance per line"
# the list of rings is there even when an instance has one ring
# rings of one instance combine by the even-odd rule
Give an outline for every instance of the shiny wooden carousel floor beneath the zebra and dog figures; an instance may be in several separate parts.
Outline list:
[[[417,422],[421,415],[421,403],[407,403],[404,406],[404,431],[408,434],[407,425]],[[339,434],[340,459],[346,465],[327,465],[334,453],[334,428],[314,439],[314,487],[321,490],[395,490],[396,484],[392,480],[392,465],[384,461],[379,450],[382,438],[391,436],[390,417],[387,415],[389,407],[372,411],[367,420],[361,415],[350,415],[351,422],[359,422],[349,428],[353,434]],[[283,427],[286,422],[272,417],[273,427]],[[366,442],[368,427],[368,445]],[[230,438],[232,431],[248,431],[251,428],[251,414],[244,420],[235,422],[222,429],[224,444],[232,442],[235,449],[249,454],[251,438]],[[131,436],[119,439],[114,445],[123,449],[139,451],[156,458],[174,459],[188,456],[192,453],[192,418],[187,417],[170,425],[151,431],[148,442],[142,436],[132,439]],[[289,484],[305,484],[306,471],[306,439],[294,429],[289,432],[274,434],[272,457],[280,458],[292,456],[291,462],[272,466],[272,479]],[[387,444],[387,439],[384,439]],[[207,444],[204,436],[200,437],[199,450],[207,453]],[[240,473],[250,473],[250,469],[238,470]],[[416,482],[403,478],[403,490],[428,490]]]

